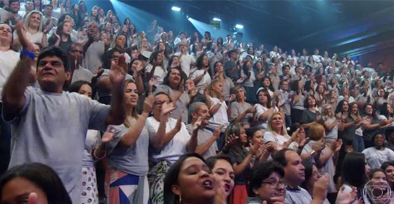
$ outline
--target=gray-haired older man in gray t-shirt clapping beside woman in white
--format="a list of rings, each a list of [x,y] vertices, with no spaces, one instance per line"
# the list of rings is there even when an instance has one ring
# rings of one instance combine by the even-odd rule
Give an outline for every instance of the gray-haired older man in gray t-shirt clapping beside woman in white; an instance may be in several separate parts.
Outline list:
[[[205,159],[211,156],[215,156],[218,151],[218,145],[216,145],[216,139],[219,138],[221,129],[223,126],[217,127],[213,132],[208,130],[206,126],[209,124],[209,109],[207,105],[201,102],[194,102],[189,107],[189,113],[191,116],[191,123],[186,126],[189,135],[192,134],[194,124],[202,119],[201,125],[197,133],[197,147],[195,152],[202,155]]]

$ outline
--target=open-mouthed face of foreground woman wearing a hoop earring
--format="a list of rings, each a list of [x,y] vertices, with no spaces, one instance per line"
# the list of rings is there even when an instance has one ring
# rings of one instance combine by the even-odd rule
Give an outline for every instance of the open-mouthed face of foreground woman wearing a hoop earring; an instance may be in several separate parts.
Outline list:
[[[182,195],[182,201],[207,203],[215,195],[213,175],[207,165],[197,157],[184,160],[178,174],[178,184],[172,186],[175,195]]]

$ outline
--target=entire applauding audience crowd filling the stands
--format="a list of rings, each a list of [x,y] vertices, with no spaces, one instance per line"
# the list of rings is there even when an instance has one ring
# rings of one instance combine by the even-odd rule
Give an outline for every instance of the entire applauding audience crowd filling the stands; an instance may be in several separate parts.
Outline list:
[[[1,203],[390,203],[383,64],[59,1],[0,1]]]

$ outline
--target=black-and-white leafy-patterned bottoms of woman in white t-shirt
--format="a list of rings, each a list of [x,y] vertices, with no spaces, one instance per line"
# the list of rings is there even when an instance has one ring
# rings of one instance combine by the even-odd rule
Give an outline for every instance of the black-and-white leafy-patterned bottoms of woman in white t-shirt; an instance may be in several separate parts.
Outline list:
[[[168,169],[170,168],[171,163],[168,161],[160,161],[156,165],[154,165],[149,173],[149,198],[152,204],[163,204],[164,203],[164,177]]]

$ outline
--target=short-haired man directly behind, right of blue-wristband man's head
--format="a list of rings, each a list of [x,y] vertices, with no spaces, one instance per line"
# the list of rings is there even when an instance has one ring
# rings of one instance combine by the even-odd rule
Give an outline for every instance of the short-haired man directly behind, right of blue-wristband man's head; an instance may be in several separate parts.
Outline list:
[[[75,69],[72,74],[71,83],[74,83],[74,81],[78,81],[78,80],[84,80],[90,82],[93,77],[93,73],[90,70],[82,67],[82,58],[84,57],[84,50],[82,44],[73,43],[70,46],[69,54],[73,58],[75,58],[74,60]]]

